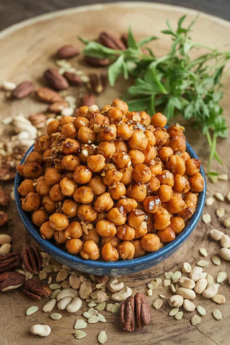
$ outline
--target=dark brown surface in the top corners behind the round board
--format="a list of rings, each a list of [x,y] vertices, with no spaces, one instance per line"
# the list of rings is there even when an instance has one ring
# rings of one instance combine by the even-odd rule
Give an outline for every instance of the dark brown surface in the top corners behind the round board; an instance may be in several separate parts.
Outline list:
[[[111,2],[110,0],[0,0],[0,30],[18,23],[24,19],[39,14],[57,11],[65,8],[94,3]],[[113,0],[116,2],[116,0]],[[197,11],[210,13],[214,16],[230,20],[229,0],[164,0],[156,1],[188,7]]]

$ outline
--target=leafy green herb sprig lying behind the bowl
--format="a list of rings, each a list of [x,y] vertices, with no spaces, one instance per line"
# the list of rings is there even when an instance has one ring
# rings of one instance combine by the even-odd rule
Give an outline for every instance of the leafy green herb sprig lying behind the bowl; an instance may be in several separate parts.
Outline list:
[[[128,48],[114,50],[102,46],[98,42],[86,41],[83,50],[85,55],[96,58],[109,58],[113,63],[108,68],[108,79],[114,86],[118,76],[132,78],[123,99],[127,101],[130,111],[146,110],[149,114],[161,110],[168,120],[182,114],[185,120],[193,120],[195,128],[200,128],[210,146],[208,175],[218,175],[211,171],[211,162],[215,158],[223,164],[216,152],[217,138],[227,137],[227,126],[223,117],[223,109],[219,105],[223,97],[221,77],[226,63],[230,60],[230,51],[219,51],[193,42],[189,33],[198,16],[183,27],[186,16],[178,20],[174,30],[167,20],[167,29],[161,32],[172,38],[169,52],[156,58],[148,49],[148,55],[141,47],[156,36],[150,36],[137,42],[131,28],[128,32]],[[207,53],[192,59],[192,49],[205,48]]]

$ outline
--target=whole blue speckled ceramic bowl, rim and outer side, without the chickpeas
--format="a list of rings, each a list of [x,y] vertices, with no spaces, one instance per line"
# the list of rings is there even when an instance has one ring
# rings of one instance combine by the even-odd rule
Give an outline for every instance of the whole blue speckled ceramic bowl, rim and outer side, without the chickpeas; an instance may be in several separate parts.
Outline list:
[[[21,163],[24,162],[26,156],[33,151],[31,146],[23,157]],[[189,153],[191,158],[198,158],[191,146],[187,143],[186,151]],[[39,244],[39,246],[48,253],[50,256],[58,260],[60,263],[65,264],[73,269],[81,272],[96,274],[96,275],[128,275],[135,272],[142,271],[151,266],[159,264],[161,261],[167,259],[170,255],[176,252],[184,241],[190,236],[192,230],[198,223],[202,214],[206,195],[206,180],[203,168],[201,167],[201,174],[204,178],[204,190],[199,194],[197,208],[193,216],[190,218],[188,225],[184,228],[182,233],[178,235],[174,241],[165,245],[158,252],[150,253],[137,259],[132,260],[118,260],[116,262],[104,262],[104,261],[93,261],[85,260],[80,256],[71,255],[60,249],[50,241],[43,239],[40,235],[39,229],[32,223],[30,213],[24,211],[21,206],[20,198],[18,193],[18,187],[21,184],[23,177],[18,173],[16,174],[14,181],[14,195],[15,202],[21,217],[21,220],[29,231],[33,239]]]

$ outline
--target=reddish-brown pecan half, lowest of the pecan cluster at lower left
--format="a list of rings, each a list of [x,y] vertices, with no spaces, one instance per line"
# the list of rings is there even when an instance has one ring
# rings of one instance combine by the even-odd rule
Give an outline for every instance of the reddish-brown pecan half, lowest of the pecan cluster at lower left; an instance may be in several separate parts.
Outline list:
[[[52,290],[48,285],[43,285],[37,280],[29,279],[23,285],[22,291],[33,299],[40,300],[42,297],[49,297]]]

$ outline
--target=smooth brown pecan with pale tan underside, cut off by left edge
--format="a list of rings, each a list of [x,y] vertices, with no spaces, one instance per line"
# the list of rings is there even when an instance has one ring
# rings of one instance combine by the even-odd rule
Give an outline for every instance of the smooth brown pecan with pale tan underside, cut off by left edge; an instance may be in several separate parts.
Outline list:
[[[0,290],[2,292],[17,289],[26,281],[26,275],[18,272],[0,274]]]

